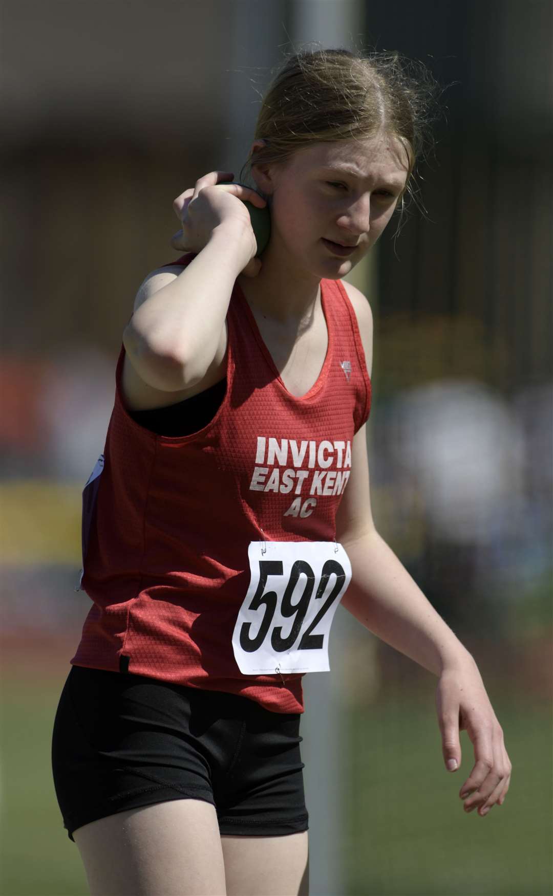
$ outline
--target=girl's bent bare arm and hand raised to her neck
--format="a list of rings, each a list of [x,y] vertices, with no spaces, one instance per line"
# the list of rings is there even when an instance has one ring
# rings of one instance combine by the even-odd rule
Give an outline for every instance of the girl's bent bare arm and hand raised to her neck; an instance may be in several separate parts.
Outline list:
[[[198,254],[177,277],[166,269],[144,280],[123,333],[136,373],[163,392],[203,380],[226,335],[235,281],[255,256],[249,215],[238,199],[247,194],[251,202],[254,191],[232,184],[214,190],[217,177],[201,178],[182,207],[186,248]]]

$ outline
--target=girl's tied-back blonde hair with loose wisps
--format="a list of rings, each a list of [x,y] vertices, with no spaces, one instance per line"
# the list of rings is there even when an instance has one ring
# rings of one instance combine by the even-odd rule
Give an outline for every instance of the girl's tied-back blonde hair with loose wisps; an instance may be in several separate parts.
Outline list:
[[[398,53],[317,49],[289,56],[267,88],[257,117],[254,139],[264,146],[250,153],[240,179],[254,164],[283,164],[315,142],[366,138],[384,130],[407,154],[401,210],[408,194],[425,211],[413,171],[431,143],[428,125],[437,90],[425,65]]]

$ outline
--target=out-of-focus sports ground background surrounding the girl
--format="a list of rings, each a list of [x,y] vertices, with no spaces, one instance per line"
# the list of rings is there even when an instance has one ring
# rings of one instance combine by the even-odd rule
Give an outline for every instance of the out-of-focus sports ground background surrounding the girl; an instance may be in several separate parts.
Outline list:
[[[547,896],[551,867],[553,108],[549,0],[3,0],[5,896],[80,896],[49,766],[89,607],[81,492],[121,335],[177,254],[171,202],[246,161],[289,52],[399,50],[445,91],[413,208],[351,275],[376,319],[376,524],[476,659],[514,765],[465,815],[436,679],[339,610],[302,721],[312,896]]]

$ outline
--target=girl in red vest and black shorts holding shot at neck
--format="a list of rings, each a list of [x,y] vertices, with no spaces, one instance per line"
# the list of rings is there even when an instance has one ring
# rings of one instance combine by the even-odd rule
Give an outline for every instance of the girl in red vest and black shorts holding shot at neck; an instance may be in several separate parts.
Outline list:
[[[511,764],[471,654],[371,515],[372,320],[341,278],[376,243],[419,150],[389,56],[292,56],[250,153],[175,201],[177,263],[134,302],[105,451],[83,494],[92,599],[56,715],[65,827],[91,893],[307,893],[301,677],[339,600],[438,678],[467,812]],[[256,257],[247,200],[271,212]]]

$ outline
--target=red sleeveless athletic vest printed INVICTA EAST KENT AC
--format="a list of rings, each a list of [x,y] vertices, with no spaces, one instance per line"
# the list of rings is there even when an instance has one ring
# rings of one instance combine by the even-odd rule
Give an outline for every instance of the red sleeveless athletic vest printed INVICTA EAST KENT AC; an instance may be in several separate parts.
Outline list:
[[[73,664],[304,711],[302,674],[241,672],[233,632],[252,575],[249,547],[333,542],[351,442],[368,417],[370,380],[340,280],[321,281],[321,301],[324,365],[297,398],[235,283],[226,392],[192,435],[157,435],[134,421],[121,347],[104,452],[83,491],[82,589],[92,606]]]

